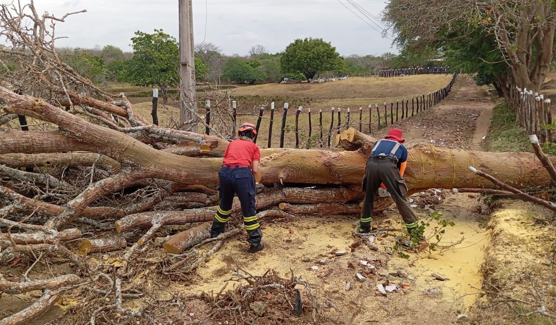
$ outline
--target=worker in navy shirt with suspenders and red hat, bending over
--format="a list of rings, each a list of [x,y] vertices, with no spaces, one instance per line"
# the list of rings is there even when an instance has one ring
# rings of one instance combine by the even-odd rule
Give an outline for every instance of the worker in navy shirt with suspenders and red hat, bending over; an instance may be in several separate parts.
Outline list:
[[[371,213],[376,192],[379,187],[382,187],[387,189],[394,199],[408,233],[423,239],[421,234],[415,232],[418,226],[417,218],[406,199],[408,186],[405,184],[403,176],[408,160],[408,150],[405,149],[404,142],[401,130],[391,129],[384,139],[376,141],[371,150],[363,179],[365,199],[361,209],[360,226],[357,228],[360,233],[370,232]]]

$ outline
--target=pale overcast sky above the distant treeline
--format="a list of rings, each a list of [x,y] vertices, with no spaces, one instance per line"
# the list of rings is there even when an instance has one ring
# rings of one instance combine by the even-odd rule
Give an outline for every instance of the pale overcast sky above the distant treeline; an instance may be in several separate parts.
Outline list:
[[[226,54],[245,55],[252,45],[275,53],[296,38],[314,37],[331,42],[341,55],[397,52],[348,1],[376,17],[385,6],[384,0],[193,0],[195,43],[205,40]],[[155,28],[178,38],[177,0],[35,0],[35,6],[55,16],[87,9],[57,23],[56,34],[68,37],[58,46],[111,44],[131,51],[135,31],[152,33]]]

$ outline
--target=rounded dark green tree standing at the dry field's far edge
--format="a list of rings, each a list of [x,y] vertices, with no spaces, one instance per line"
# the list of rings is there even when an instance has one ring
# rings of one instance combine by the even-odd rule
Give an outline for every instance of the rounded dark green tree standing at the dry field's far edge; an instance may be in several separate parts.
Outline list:
[[[282,72],[302,73],[307,80],[319,72],[333,71],[342,67],[342,58],[336,48],[322,38],[296,39],[287,45],[280,58]]]

